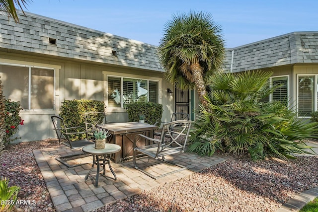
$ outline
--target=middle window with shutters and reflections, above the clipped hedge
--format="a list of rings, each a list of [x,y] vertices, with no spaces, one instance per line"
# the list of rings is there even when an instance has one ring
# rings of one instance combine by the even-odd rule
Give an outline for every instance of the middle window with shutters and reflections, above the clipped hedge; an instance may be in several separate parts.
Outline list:
[[[133,102],[158,103],[158,81],[107,76],[107,83],[109,107],[125,107]]]

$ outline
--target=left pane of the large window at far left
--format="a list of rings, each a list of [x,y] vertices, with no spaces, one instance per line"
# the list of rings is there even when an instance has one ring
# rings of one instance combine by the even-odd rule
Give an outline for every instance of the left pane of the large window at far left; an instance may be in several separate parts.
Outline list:
[[[29,68],[0,65],[0,76],[5,98],[19,101],[23,109],[28,109]]]

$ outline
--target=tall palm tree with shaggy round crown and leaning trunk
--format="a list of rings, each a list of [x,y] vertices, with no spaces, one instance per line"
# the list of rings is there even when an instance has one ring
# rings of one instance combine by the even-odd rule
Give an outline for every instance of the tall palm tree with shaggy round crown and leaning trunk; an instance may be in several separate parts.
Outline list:
[[[165,24],[159,44],[165,78],[182,90],[196,88],[203,106],[207,104],[205,81],[223,65],[225,49],[221,32],[221,26],[209,13],[179,13]]]

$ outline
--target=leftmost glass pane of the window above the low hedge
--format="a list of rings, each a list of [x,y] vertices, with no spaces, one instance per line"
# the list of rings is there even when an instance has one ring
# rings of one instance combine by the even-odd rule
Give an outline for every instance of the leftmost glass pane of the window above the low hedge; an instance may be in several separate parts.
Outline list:
[[[108,106],[120,107],[120,78],[108,77]]]

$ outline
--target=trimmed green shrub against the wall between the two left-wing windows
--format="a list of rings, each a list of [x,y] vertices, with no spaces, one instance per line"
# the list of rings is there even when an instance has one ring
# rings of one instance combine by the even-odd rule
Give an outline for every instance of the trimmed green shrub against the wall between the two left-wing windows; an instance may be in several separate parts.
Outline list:
[[[66,127],[85,127],[84,113],[104,112],[105,103],[98,100],[64,100],[60,107],[60,116],[64,119]],[[85,135],[71,135],[71,140],[82,139]]]

